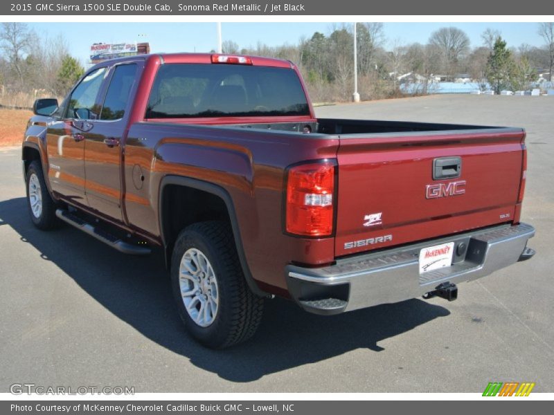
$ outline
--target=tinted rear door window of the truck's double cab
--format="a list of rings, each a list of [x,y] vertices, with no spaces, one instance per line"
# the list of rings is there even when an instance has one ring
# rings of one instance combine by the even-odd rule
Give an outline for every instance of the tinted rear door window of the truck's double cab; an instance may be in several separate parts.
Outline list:
[[[114,75],[109,82],[100,120],[119,120],[123,118],[135,76],[136,64],[116,66]]]

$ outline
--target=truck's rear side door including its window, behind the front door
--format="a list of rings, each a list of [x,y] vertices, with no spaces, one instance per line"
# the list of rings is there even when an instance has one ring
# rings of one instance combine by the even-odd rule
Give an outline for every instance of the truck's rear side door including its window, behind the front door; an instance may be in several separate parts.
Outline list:
[[[121,160],[127,128],[129,96],[136,87],[137,62],[111,68],[100,118],[85,133],[85,188],[90,208],[123,221]]]

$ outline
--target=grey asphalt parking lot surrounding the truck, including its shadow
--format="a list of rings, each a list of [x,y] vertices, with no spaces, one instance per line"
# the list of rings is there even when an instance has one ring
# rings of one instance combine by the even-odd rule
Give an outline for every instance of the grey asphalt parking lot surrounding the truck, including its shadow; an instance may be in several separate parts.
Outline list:
[[[325,118],[527,129],[522,221],[537,255],[459,286],[334,317],[267,302],[253,340],[211,351],[186,335],[159,252],[125,256],[70,227],[35,229],[20,150],[0,147],[0,391],[13,383],[136,392],[554,391],[554,97],[435,95],[316,108]],[[23,133],[23,131],[21,131]]]

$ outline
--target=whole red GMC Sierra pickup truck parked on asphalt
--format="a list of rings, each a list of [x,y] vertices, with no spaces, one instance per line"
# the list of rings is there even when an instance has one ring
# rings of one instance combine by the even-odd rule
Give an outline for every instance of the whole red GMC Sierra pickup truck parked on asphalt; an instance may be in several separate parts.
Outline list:
[[[208,347],[250,338],[268,297],[321,315],[452,300],[535,253],[523,129],[318,119],[284,60],[115,59],[34,112],[30,219],[131,255],[161,246]]]

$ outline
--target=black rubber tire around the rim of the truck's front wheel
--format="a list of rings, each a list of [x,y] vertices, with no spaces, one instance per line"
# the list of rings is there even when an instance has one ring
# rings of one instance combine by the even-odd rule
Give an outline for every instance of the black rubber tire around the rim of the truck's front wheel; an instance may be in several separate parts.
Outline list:
[[[29,196],[30,181],[33,180],[33,182],[36,183],[33,176],[35,176],[36,181],[39,184],[39,189],[37,189],[41,199],[41,209],[39,213],[38,211],[33,212],[31,198]],[[46,182],[44,181],[44,174],[42,173],[42,165],[38,160],[34,160],[30,163],[26,172],[25,183],[30,220],[33,221],[37,228],[42,230],[57,228],[60,225],[60,219],[57,219],[56,216],[57,203],[55,203],[50,196],[50,193],[48,193],[48,188],[46,187]]]

